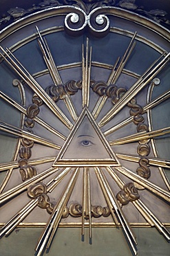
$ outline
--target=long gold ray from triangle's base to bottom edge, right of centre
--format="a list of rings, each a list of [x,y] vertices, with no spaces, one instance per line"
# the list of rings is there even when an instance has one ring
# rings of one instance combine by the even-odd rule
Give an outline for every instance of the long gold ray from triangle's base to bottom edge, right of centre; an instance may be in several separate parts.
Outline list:
[[[129,226],[129,223],[127,222],[127,219],[125,217],[125,214],[123,213],[123,210],[120,208],[120,205],[114,196],[113,192],[111,191],[111,188],[109,187],[109,184],[107,183],[107,180],[103,174],[103,171],[96,167],[95,172],[98,178],[98,181],[100,184],[103,184],[103,187],[105,188],[105,192],[107,193],[107,196],[109,197],[109,201],[112,204],[112,210],[116,212],[116,215],[118,217],[118,220],[120,221],[120,224],[123,227],[123,230],[125,232],[125,235],[127,237],[127,241],[129,241],[129,244],[131,246],[131,249],[134,252],[134,255],[137,255],[137,249],[136,249],[136,237],[134,237],[134,232]],[[103,188],[101,186],[101,188]]]

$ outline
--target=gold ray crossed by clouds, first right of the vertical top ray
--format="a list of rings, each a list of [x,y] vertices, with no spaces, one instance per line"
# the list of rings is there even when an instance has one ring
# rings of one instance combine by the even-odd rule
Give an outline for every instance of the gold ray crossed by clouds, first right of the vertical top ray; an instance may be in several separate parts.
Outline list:
[[[120,73],[122,73],[123,68],[127,63],[127,60],[129,59],[129,56],[131,55],[136,45],[136,42],[134,42],[136,34],[137,32],[134,33],[134,36],[132,37],[131,42],[129,43],[129,46],[127,46],[127,50],[125,51],[125,54],[123,55],[122,59],[120,60],[120,57],[118,57],[118,59],[116,60],[116,63],[114,64],[111,70],[111,73],[109,75],[109,78],[107,80],[107,86],[109,84],[115,84],[116,81],[118,80],[118,77],[120,76]],[[120,60],[120,63],[118,64],[119,60]],[[92,111],[92,115],[94,116],[94,119],[98,117],[106,101],[107,101],[107,95],[103,95],[102,97],[98,98],[98,101],[96,102],[94,110]]]

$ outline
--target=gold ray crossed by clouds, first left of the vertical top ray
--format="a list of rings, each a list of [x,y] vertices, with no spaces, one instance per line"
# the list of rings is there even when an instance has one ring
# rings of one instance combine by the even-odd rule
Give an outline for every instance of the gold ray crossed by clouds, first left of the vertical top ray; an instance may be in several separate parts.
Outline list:
[[[43,38],[41,36],[41,33],[39,32],[39,28],[37,26],[36,26],[36,30],[37,30],[37,32],[39,34],[39,38],[40,38],[40,39],[38,39],[38,42],[39,42],[39,46],[41,48],[41,52],[43,53],[43,59],[45,60],[45,64],[47,65],[47,68],[50,72],[52,80],[56,86],[58,84],[63,84],[63,82],[61,80],[61,76],[59,75],[59,71],[58,71],[56,64],[54,62],[54,59],[52,57],[50,48],[47,45],[47,41],[45,40],[45,38]],[[78,118],[78,114],[76,113],[76,109],[72,102],[72,98],[70,97],[70,95],[65,94],[63,101],[65,102],[65,105],[66,105],[68,111],[70,112],[72,119],[74,120],[74,122],[76,122],[76,120]]]

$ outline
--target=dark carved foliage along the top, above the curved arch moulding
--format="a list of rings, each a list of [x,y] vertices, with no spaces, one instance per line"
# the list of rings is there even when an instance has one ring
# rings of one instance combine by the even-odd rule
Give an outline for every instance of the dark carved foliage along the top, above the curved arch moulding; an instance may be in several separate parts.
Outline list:
[[[47,8],[65,5],[77,6],[79,8],[82,8],[87,14],[92,9],[97,7],[112,6],[116,8],[122,8],[124,10],[130,10],[131,12],[135,12],[138,15],[142,15],[149,19],[152,19],[153,21],[167,26],[168,28],[170,25],[166,10],[146,10],[145,3],[143,6],[138,6],[136,0],[43,0],[39,4],[33,4],[32,7],[28,9],[18,8],[17,6],[16,8],[10,8],[10,10],[8,10],[8,15],[3,14],[3,18],[0,19],[0,25],[8,25],[17,19],[21,19],[21,17],[25,17],[26,15],[30,15],[39,10],[45,10]]]

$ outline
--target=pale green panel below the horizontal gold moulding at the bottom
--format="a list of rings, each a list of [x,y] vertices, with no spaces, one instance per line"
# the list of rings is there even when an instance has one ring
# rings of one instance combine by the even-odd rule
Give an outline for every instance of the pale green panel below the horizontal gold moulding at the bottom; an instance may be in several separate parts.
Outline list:
[[[3,256],[32,256],[42,228],[17,228],[0,241]],[[131,256],[121,229],[93,228],[93,243],[81,241],[81,228],[59,228],[48,256]],[[138,255],[169,256],[169,243],[155,228],[134,228],[138,240]],[[10,246],[9,246],[10,244]]]

